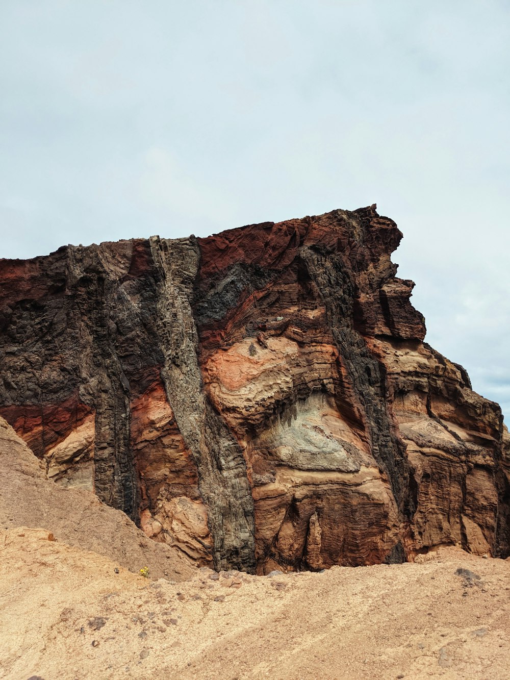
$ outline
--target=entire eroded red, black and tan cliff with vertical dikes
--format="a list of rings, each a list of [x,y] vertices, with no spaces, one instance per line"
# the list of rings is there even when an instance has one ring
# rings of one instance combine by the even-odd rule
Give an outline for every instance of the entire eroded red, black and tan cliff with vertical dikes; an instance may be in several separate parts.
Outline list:
[[[216,568],[510,551],[498,405],[424,343],[375,206],[0,261],[0,414]]]

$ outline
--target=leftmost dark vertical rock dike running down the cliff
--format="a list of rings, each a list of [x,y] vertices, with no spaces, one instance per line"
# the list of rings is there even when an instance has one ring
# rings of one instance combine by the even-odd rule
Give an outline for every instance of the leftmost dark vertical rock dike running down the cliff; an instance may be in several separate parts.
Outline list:
[[[129,242],[114,254],[98,246],[69,246],[67,290],[78,317],[76,350],[82,387],[80,396],[95,407],[95,492],[108,505],[138,517],[137,475],[129,445],[129,382],[116,352],[118,279],[131,260]]]

